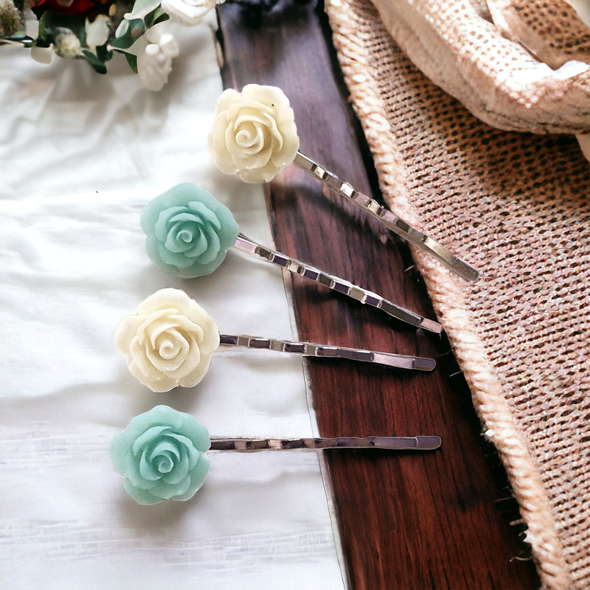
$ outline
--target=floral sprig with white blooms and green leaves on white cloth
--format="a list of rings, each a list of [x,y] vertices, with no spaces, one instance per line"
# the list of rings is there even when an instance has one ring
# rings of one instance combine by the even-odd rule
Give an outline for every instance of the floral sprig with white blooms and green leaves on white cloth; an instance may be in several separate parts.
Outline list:
[[[0,45],[30,47],[31,56],[45,64],[53,53],[84,59],[100,74],[117,51],[156,91],[168,81],[179,53],[166,21],[197,25],[216,4],[219,0],[0,0]]]

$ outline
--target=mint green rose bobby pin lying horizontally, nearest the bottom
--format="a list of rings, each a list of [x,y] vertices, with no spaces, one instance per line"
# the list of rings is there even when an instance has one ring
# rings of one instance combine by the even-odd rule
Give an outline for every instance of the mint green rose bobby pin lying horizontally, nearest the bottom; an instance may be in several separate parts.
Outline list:
[[[111,445],[114,468],[139,504],[191,499],[209,471],[207,451],[278,451],[326,448],[378,448],[427,451],[440,437],[209,438],[190,414],[159,405],[132,419]]]

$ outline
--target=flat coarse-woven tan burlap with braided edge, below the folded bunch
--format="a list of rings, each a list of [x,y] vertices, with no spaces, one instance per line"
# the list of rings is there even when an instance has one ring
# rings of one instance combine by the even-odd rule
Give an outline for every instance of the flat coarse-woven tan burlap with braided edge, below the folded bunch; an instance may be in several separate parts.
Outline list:
[[[326,11],[389,207],[482,271],[467,284],[414,250],[543,584],[589,588],[590,166],[573,138],[473,117],[368,1]]]

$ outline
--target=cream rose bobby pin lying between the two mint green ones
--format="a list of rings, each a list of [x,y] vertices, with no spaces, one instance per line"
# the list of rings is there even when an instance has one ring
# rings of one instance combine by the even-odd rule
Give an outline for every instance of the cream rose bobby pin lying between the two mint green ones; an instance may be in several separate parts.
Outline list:
[[[115,345],[129,371],[152,391],[194,387],[207,373],[211,356],[224,346],[276,350],[301,356],[359,360],[399,369],[432,371],[433,359],[309,342],[219,334],[214,320],[178,289],[161,289],[124,317]]]

